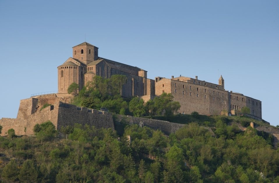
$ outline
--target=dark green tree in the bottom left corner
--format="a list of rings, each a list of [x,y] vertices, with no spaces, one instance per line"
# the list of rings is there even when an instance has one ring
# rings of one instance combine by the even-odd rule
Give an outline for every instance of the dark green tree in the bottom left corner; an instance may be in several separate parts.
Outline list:
[[[17,163],[15,159],[12,159],[2,171],[2,178],[8,182],[14,182],[17,180],[17,176],[19,174],[19,169],[17,167]]]

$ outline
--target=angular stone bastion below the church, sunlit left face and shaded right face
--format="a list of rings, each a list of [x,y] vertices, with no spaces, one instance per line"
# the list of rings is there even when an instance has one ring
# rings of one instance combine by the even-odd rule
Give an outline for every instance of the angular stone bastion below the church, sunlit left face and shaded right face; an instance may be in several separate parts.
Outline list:
[[[114,129],[111,113],[77,107],[61,102],[61,100],[69,100],[69,98],[58,98],[55,94],[50,94],[21,100],[16,119],[0,119],[0,124],[3,127],[1,135],[5,136],[10,128],[13,128],[17,135],[32,135],[34,125],[48,120],[58,130],[61,126],[74,125],[75,123],[94,125],[96,128]],[[45,103],[51,105],[42,109]]]

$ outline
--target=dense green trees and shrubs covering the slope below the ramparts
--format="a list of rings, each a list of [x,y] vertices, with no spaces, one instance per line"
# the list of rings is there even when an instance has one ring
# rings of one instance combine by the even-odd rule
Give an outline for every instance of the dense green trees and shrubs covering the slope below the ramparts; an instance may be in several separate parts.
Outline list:
[[[124,121],[123,121],[124,122]],[[55,134],[48,123],[36,128]],[[197,123],[165,136],[160,130],[126,125],[112,129],[63,127],[69,140],[1,137],[1,179],[20,182],[278,182],[279,150],[269,135],[241,132],[216,121],[215,134]],[[35,129],[34,129],[35,130]],[[131,137],[131,143],[127,141]],[[259,136],[260,135],[260,136]],[[14,158],[15,157],[15,158]],[[27,171],[28,170],[28,171]]]

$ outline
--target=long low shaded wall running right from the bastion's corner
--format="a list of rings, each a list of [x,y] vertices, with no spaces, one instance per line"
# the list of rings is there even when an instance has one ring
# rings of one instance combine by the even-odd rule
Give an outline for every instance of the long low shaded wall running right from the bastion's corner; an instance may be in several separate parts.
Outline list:
[[[171,123],[168,121],[161,121],[156,119],[138,118],[133,116],[116,115],[116,121],[124,120],[130,124],[138,124],[141,126],[147,126],[154,130],[161,130],[163,133],[169,135],[172,132],[182,128],[184,124]]]

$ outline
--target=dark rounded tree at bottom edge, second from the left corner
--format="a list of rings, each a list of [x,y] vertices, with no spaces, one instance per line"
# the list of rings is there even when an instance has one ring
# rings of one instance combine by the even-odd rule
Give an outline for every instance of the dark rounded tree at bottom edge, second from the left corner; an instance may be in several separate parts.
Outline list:
[[[38,169],[32,160],[27,159],[18,175],[20,182],[38,182]]]

